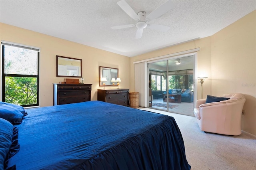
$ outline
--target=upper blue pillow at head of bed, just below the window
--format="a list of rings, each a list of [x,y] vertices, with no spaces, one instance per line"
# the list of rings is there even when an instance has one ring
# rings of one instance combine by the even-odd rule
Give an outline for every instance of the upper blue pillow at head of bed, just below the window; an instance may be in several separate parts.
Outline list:
[[[24,116],[28,115],[24,108],[12,103],[0,102],[0,118],[12,124],[20,124]]]

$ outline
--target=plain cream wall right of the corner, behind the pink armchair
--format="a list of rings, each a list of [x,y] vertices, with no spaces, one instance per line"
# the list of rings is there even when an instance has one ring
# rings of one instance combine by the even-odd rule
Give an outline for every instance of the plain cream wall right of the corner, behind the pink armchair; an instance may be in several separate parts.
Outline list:
[[[212,94],[243,93],[242,129],[256,135],[256,11],[212,36]]]

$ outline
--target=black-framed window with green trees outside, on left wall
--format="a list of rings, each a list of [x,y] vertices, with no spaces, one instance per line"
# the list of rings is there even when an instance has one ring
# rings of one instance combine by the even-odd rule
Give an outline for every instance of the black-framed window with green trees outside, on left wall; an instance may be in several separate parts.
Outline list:
[[[2,42],[2,101],[39,105],[39,49]]]

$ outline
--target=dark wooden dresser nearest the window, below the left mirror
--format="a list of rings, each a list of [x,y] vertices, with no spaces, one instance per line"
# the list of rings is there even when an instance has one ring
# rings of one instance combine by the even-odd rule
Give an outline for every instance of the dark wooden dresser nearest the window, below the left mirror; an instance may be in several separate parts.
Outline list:
[[[53,84],[53,105],[91,101],[92,84]]]

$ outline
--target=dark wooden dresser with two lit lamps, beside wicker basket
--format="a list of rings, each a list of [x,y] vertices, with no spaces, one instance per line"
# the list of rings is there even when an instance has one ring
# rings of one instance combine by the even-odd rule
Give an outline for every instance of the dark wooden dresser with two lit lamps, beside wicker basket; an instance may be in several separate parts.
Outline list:
[[[128,106],[129,89],[98,89],[98,101]]]

